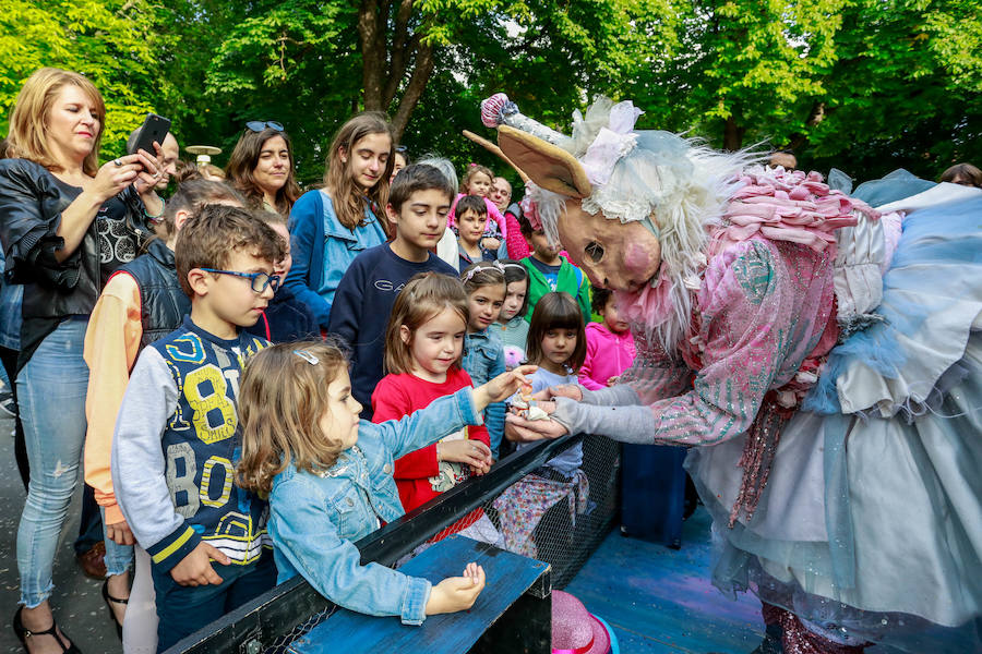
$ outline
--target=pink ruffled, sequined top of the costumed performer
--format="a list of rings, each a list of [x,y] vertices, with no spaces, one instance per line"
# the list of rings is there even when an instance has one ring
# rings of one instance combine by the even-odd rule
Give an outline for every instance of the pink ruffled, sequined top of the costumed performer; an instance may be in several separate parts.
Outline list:
[[[855,225],[854,210],[875,217],[863,203],[830,191],[817,173],[778,169],[742,181],[719,225],[709,228],[688,332],[675,351],[651,337],[673,319],[669,282],[619,293],[637,359],[622,375],[634,392],[614,390],[613,402],[648,407],[649,443],[714,445],[749,434],[731,523],[741,512],[753,514],[780,427],[836,343],[833,232]],[[561,403],[556,420],[563,415]],[[597,428],[587,433],[604,433]]]

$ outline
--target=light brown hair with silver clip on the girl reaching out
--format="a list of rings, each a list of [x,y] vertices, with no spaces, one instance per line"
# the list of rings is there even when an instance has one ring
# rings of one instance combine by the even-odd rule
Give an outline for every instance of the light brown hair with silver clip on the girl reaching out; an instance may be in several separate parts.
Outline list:
[[[334,465],[343,447],[321,431],[321,419],[327,386],[347,367],[340,349],[323,341],[272,346],[249,361],[239,392],[239,486],[265,497],[291,461],[307,472]]]

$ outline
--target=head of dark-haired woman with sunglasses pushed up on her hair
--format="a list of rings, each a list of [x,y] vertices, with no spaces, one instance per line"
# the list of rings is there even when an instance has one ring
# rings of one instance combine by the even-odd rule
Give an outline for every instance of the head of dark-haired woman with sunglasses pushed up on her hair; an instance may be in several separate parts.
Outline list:
[[[283,125],[272,120],[246,123],[225,173],[250,208],[289,216],[300,197],[294,179],[294,146]]]

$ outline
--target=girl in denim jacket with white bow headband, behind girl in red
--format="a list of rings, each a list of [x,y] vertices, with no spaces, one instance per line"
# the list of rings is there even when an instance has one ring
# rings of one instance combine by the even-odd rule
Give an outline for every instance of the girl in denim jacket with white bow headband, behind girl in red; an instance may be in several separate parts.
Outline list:
[[[484,384],[505,372],[504,346],[489,329],[504,304],[506,287],[503,270],[498,262],[478,262],[460,272],[470,314],[460,365],[475,385]],[[495,402],[484,411],[484,423],[491,437],[491,455],[495,461],[504,436],[504,402]]]

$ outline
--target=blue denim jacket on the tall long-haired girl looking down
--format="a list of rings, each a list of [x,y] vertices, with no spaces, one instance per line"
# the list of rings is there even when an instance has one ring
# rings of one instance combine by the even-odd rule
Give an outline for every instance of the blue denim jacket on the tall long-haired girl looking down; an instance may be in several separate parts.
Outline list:
[[[290,210],[290,254],[294,265],[285,286],[327,329],[334,291],[355,257],[385,242],[382,223],[364,206],[366,225],[348,229],[337,219],[325,190],[309,191]],[[323,242],[322,242],[323,241]]]

